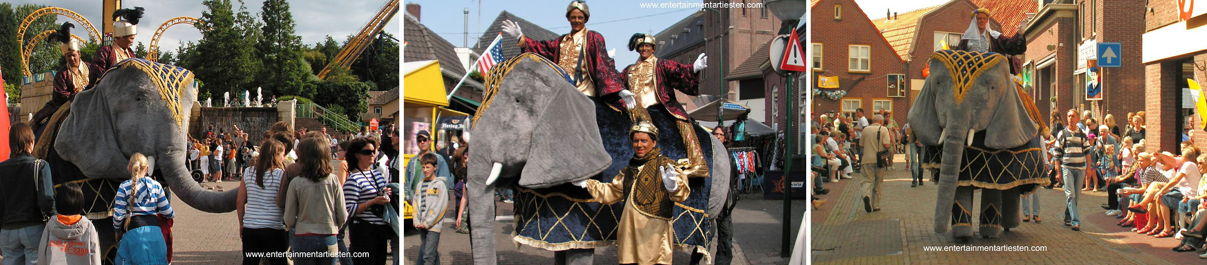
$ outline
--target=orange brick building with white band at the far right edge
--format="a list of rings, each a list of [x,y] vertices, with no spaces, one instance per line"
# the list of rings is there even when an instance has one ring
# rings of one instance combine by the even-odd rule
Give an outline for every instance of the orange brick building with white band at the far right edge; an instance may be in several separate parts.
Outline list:
[[[1183,6],[1190,5],[1190,6]],[[1189,81],[1207,87],[1207,4],[1153,0],[1144,6],[1144,34],[1141,60],[1144,64],[1144,107],[1148,119],[1144,135],[1148,151],[1178,152],[1188,117],[1199,119],[1186,105]],[[1197,8],[1195,8],[1197,7]],[[1188,12],[1182,12],[1186,10]],[[1203,124],[1194,120],[1194,142],[1207,148]]]

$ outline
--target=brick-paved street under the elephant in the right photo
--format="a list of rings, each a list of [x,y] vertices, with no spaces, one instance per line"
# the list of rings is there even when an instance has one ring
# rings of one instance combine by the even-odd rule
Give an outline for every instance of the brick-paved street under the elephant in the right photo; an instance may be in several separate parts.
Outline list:
[[[897,155],[897,165],[904,157]],[[1042,246],[1043,252],[929,252],[925,246],[962,246],[950,235],[933,232],[935,188],[927,182],[910,188],[909,171],[890,170],[885,177],[880,212],[867,213],[859,199],[859,179],[826,183],[829,202],[814,212],[815,264],[1201,264],[1197,254],[1170,251],[1178,240],[1153,238],[1116,226],[1100,205],[1107,193],[1083,192],[1078,202],[1081,231],[1062,223],[1065,193],[1040,189],[1042,224],[1022,223],[1001,238],[975,235],[966,246]],[[979,192],[978,192],[979,194]],[[973,212],[980,212],[979,195]],[[975,225],[975,224],[974,224]]]

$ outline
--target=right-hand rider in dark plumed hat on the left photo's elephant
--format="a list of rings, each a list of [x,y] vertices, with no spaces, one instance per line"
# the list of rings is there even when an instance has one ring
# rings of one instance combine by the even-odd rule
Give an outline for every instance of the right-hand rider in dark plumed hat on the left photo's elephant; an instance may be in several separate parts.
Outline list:
[[[136,25],[139,19],[142,19],[142,7],[117,10],[113,11],[112,17],[116,20],[113,22],[113,43],[98,48],[97,55],[92,60],[92,64],[97,65],[101,73],[117,61],[135,58],[130,45],[134,43],[134,35],[139,34]]]

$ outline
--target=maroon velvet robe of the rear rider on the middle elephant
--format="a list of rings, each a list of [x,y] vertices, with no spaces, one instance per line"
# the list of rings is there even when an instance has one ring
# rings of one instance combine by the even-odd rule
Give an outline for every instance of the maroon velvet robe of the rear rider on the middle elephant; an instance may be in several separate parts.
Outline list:
[[[630,64],[624,67],[625,77],[629,76],[629,71],[635,65]],[[680,105],[678,100],[675,99],[675,89],[687,95],[700,95],[700,78],[692,70],[692,65],[658,58],[658,63],[654,65],[654,86],[658,88],[658,102],[663,104],[667,112],[675,118],[692,120],[687,116],[687,110],[683,110],[683,105]]]

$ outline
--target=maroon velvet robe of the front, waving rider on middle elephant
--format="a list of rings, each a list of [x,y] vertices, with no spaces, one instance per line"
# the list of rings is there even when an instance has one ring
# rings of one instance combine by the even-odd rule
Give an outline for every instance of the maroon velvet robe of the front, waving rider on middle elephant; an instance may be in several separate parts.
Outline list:
[[[536,53],[558,63],[558,59],[561,58],[561,40],[566,39],[567,35],[561,35],[552,41],[537,41],[524,37],[524,45],[520,48],[523,52]],[[602,99],[604,102],[608,102],[616,110],[624,110],[624,106],[620,104],[620,95],[616,94],[624,89],[624,76],[616,71],[616,63],[607,55],[604,35],[594,30],[588,30],[587,43],[584,46],[583,63],[590,66],[587,71],[590,71],[588,73],[595,84],[595,96]],[[566,71],[570,71],[570,75],[575,73],[573,69],[567,69]]]

